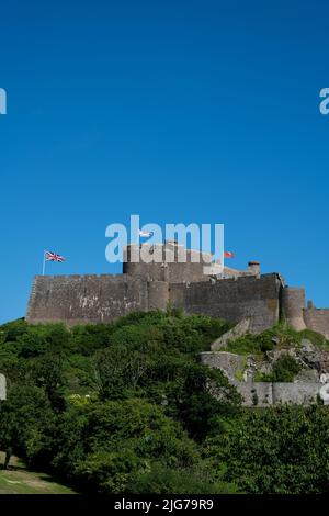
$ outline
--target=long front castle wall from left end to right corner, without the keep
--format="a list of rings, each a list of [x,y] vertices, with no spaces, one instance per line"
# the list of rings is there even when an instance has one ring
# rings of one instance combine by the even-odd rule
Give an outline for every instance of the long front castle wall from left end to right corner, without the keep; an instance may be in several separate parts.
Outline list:
[[[131,274],[39,276],[33,284],[26,319],[107,323],[136,310],[166,310],[170,302],[190,314],[231,322],[250,317],[250,330],[258,333],[279,319],[280,291],[277,274],[197,283],[149,281]]]

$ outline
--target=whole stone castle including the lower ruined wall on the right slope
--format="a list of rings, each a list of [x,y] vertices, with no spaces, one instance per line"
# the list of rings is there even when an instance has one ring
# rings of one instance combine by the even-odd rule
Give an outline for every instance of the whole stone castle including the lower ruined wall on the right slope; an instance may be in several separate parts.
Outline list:
[[[304,369],[294,382],[262,382],[256,380],[252,356],[246,359],[228,352],[223,344],[239,333],[259,334],[281,317],[297,330],[310,328],[329,338],[329,310],[316,309],[310,301],[306,306],[304,289],[287,287],[277,272],[261,274],[258,261],[250,261],[247,270],[209,266],[211,261],[211,255],[188,250],[175,240],[129,245],[122,274],[37,276],[26,321],[110,323],[137,310],[166,310],[168,305],[188,314],[211,315],[237,325],[214,341],[211,351],[202,352],[201,361],[220,369],[245,405],[307,405],[319,395],[328,404],[329,383],[324,384],[329,379],[327,350],[316,349],[304,339],[298,349],[279,349],[272,358],[268,354],[265,362],[257,364],[260,370],[268,371],[282,352],[292,354]]]

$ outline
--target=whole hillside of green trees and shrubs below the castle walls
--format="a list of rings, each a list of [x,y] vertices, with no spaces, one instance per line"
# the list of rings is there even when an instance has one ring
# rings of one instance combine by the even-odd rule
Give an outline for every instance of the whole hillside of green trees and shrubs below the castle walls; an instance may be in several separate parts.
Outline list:
[[[246,410],[200,362],[230,327],[171,310],[109,325],[1,326],[1,449],[86,493],[327,491],[326,407]],[[266,338],[229,346],[257,356]]]

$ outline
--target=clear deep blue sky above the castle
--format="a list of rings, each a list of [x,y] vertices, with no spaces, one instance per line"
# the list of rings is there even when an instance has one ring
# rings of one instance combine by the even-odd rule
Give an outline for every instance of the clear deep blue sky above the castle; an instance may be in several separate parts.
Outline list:
[[[0,322],[49,273],[116,272],[105,227],[224,223],[329,305],[327,1],[11,0],[0,9]]]

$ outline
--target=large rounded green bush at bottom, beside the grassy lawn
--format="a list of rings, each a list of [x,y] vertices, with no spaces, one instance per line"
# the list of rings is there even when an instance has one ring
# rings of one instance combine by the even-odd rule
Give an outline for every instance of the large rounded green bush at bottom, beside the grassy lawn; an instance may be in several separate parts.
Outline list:
[[[78,440],[72,440],[72,426]],[[64,441],[53,463],[78,479],[84,491],[121,493],[131,479],[148,470],[151,460],[184,469],[198,457],[181,426],[141,400],[76,408],[69,418],[65,416],[59,431]]]

